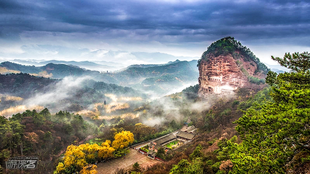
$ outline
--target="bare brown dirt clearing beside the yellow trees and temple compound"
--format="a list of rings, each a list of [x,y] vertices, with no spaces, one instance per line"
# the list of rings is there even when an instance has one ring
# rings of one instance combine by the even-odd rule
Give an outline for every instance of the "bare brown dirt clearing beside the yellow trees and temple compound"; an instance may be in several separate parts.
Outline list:
[[[127,170],[130,169],[132,164],[135,162],[138,162],[141,168],[146,168],[155,163],[162,163],[156,159],[150,159],[146,155],[143,155],[142,153],[135,151],[132,148],[129,150],[130,153],[125,156],[125,159],[124,157],[120,157],[112,159],[106,163],[98,163],[96,168],[98,174],[113,174],[116,168],[125,168]]]

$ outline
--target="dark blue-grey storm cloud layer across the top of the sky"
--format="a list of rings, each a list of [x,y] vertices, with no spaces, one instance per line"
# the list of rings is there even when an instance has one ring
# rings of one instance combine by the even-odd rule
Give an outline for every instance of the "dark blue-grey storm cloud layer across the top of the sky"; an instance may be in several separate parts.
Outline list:
[[[2,0],[0,37],[21,32],[133,35],[160,42],[309,36],[307,1]],[[15,35],[14,35],[15,34]],[[304,42],[305,43],[305,42]],[[308,44],[308,43],[307,43]]]

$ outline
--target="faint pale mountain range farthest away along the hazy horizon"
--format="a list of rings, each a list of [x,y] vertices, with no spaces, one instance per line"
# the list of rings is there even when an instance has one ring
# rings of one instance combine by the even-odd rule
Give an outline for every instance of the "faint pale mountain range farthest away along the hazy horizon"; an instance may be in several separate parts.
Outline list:
[[[43,62],[44,60],[65,60],[76,62],[90,61],[101,65],[126,67],[132,64],[164,64],[169,61],[175,61],[176,59],[179,59],[181,61],[184,60],[189,61],[200,58],[200,57],[173,56],[170,54],[158,53],[158,52],[156,53],[128,52],[122,50],[113,51],[105,49],[91,50],[86,48],[69,48],[55,45],[23,45],[20,47],[20,49],[24,53],[14,55],[2,53],[0,55],[0,60],[2,59],[3,61],[14,62],[12,61],[12,57],[16,60],[29,59],[32,61],[24,63],[22,62],[15,62],[15,63],[20,63],[24,65],[35,65],[35,66],[41,66],[42,64],[38,65],[31,63]],[[42,60],[42,61],[35,61],[35,60]],[[99,70],[99,69],[91,69],[91,70]]]

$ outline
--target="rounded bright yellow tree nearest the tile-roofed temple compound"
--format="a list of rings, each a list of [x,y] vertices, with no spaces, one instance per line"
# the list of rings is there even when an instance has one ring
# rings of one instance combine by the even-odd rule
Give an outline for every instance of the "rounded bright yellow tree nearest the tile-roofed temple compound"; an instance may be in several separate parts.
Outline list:
[[[114,141],[112,142],[112,147],[114,149],[124,149],[129,146],[129,144],[134,142],[134,134],[130,131],[122,131],[115,134]]]

